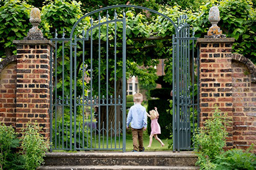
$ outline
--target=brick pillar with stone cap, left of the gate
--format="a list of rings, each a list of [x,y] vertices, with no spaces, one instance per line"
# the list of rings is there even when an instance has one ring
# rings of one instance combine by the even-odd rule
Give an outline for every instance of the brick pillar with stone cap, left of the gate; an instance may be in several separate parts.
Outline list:
[[[15,40],[17,44],[16,131],[26,124],[39,123],[42,135],[49,137],[49,40]],[[21,135],[21,134],[20,134]]]

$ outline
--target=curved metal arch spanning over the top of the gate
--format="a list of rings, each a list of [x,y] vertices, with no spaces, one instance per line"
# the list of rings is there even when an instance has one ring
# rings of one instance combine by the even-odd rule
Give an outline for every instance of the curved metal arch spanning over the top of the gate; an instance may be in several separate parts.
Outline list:
[[[112,8],[118,8],[118,7],[120,7],[120,8],[122,8],[122,7],[123,7],[123,8],[132,7],[132,8],[138,8],[138,9],[147,10],[147,11],[156,13],[156,14],[158,14],[158,15],[160,15],[160,16],[166,18],[166,19],[168,19],[168,20],[172,23],[172,25],[174,26],[175,33],[178,34],[178,28],[177,28],[177,26],[175,25],[175,23],[171,20],[171,18],[168,17],[168,16],[166,16],[166,15],[164,15],[164,14],[162,14],[162,13],[160,13],[160,12],[158,12],[158,11],[152,10],[152,9],[150,9],[150,8],[142,7],[142,6],[136,6],[136,5],[114,5],[114,6],[108,6],[108,7],[100,8],[100,9],[98,9],[98,10],[92,11],[92,12],[87,13],[86,15],[82,16],[82,17],[74,24],[74,26],[73,26],[73,28],[72,28],[72,30],[71,30],[70,39],[72,39],[72,37],[73,37],[73,33],[74,33],[74,30],[75,30],[75,27],[77,26],[77,24],[78,24],[82,19],[84,19],[85,17],[88,17],[88,16],[90,16],[90,15],[92,15],[92,14],[94,14],[94,13],[97,13],[97,12],[100,12],[100,11],[104,11],[104,10],[108,10],[108,9],[112,9]]]

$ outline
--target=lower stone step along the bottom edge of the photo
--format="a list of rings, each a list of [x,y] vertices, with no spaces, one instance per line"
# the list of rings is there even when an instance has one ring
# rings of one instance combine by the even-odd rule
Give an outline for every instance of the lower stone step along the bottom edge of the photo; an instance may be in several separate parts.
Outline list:
[[[199,170],[196,166],[41,166],[38,170]]]

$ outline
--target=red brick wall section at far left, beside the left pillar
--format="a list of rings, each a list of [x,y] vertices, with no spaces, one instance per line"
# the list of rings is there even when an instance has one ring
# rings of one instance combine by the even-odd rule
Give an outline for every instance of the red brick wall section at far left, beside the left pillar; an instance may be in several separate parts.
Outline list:
[[[0,72],[0,122],[6,125],[16,124],[16,66],[12,61]]]

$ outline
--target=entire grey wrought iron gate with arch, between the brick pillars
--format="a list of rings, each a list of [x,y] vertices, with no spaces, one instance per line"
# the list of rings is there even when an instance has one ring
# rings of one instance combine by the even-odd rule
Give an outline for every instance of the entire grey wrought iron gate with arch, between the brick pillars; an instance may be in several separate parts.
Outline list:
[[[196,82],[193,72],[196,38],[190,38],[187,17],[183,15],[178,18],[176,25],[169,17],[149,8],[117,5],[101,8],[81,17],[74,24],[69,38],[65,38],[64,30],[62,38],[58,38],[56,30],[55,38],[51,39],[55,43],[55,50],[50,49],[51,149],[126,151],[126,13],[123,10],[122,18],[119,18],[114,10],[111,17],[108,10],[127,7],[156,13],[174,26],[174,151],[192,148],[190,123],[192,122],[194,130],[194,117],[199,105],[196,103],[198,95],[195,100]],[[93,20],[95,14],[98,14],[96,22]],[[101,17],[103,14],[105,19]],[[90,18],[90,27],[80,31],[78,27],[82,27],[81,21],[86,18]],[[122,29],[122,42],[117,41],[118,23],[122,24],[122,27],[118,27]],[[110,24],[114,24],[114,30],[109,30]],[[105,34],[102,37],[103,32]],[[93,39],[93,34],[98,34],[97,40]],[[102,39],[106,41],[104,46]],[[110,52],[110,48],[114,52]],[[122,49],[122,52],[117,48]],[[118,57],[120,54],[122,57]],[[114,69],[114,75],[110,74],[111,69]],[[122,75],[117,75],[120,70]],[[191,72],[193,74],[190,76]],[[117,89],[117,82],[122,84],[121,90]]]

